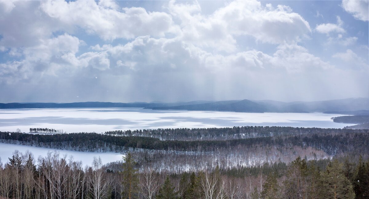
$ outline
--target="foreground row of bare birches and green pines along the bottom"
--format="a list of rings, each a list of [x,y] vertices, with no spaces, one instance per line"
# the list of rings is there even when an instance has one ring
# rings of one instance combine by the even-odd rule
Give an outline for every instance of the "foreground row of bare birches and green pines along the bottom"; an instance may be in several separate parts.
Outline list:
[[[0,195],[14,199],[366,199],[369,160],[348,157],[286,165],[264,164],[244,173],[212,170],[138,172],[137,157],[128,153],[118,170],[94,158],[91,167],[48,153],[38,164],[31,153],[15,151],[0,164]]]

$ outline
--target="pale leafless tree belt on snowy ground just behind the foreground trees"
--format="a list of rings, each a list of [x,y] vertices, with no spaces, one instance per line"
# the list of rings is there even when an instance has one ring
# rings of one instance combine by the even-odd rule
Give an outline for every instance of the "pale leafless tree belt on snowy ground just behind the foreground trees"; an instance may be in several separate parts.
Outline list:
[[[183,172],[199,172],[212,170],[218,166],[221,170],[230,170],[234,173],[247,172],[248,168],[256,168],[264,164],[290,163],[298,156],[307,160],[320,160],[330,158],[324,151],[311,147],[253,147],[233,150],[219,150],[211,153],[196,152],[172,152],[159,150],[132,150],[132,155],[136,157],[139,171],[153,169],[158,172],[170,174]],[[358,160],[358,157],[353,157]],[[121,161],[109,163],[108,166],[118,170],[122,165]],[[239,170],[239,172],[235,172]]]

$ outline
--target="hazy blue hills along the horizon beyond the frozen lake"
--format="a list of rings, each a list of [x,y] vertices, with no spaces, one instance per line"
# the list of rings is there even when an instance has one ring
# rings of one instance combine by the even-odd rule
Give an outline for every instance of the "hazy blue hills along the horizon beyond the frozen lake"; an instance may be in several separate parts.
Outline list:
[[[369,113],[369,98],[348,98],[314,102],[280,102],[272,100],[230,100],[191,102],[73,102],[73,103],[0,103],[0,109],[20,108],[146,108],[154,110],[232,111],[232,112],[325,112],[365,115]]]

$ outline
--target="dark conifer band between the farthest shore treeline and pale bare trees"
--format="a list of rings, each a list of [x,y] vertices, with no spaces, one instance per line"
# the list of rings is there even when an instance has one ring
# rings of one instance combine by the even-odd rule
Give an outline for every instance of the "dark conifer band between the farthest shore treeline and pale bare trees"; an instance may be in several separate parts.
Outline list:
[[[54,149],[69,149],[76,151],[115,151],[122,152],[128,148],[165,150],[165,151],[193,151],[216,152],[232,150],[238,147],[313,147],[323,150],[329,155],[351,151],[369,154],[369,130],[337,129],[323,133],[255,137],[232,140],[160,140],[152,137],[111,136],[98,133],[70,133],[55,135],[25,134],[17,132],[0,132],[0,142],[26,144],[31,146],[48,147]]]

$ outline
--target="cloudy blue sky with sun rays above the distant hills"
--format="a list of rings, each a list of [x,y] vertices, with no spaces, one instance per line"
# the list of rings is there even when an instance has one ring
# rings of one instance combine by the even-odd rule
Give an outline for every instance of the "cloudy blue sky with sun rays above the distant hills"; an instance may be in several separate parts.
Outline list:
[[[369,97],[368,0],[0,0],[0,102]]]

